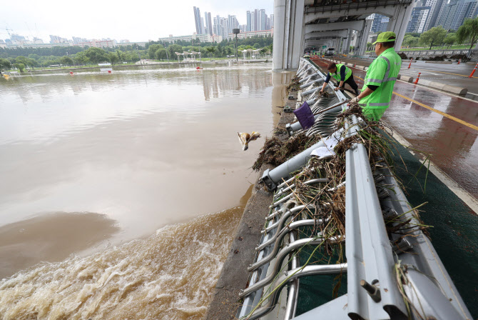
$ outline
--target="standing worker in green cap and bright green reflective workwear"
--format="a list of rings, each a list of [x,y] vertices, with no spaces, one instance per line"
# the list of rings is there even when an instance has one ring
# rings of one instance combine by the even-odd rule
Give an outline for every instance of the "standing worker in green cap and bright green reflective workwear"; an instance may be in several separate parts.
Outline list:
[[[378,35],[373,43],[377,59],[368,67],[362,92],[349,103],[349,106],[354,102],[362,106],[362,113],[371,121],[379,121],[388,108],[402,66],[402,58],[393,49],[395,38],[391,31]]]

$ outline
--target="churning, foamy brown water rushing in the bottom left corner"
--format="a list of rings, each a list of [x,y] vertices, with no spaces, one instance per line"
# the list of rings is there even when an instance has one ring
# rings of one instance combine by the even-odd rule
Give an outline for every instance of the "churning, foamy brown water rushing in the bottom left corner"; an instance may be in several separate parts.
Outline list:
[[[242,207],[0,281],[0,319],[202,319]]]

